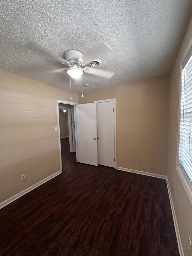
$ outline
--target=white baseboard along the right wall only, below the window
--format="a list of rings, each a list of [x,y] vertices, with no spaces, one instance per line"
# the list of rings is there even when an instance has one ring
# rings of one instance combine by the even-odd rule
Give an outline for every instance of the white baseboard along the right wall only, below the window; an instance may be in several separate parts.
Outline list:
[[[177,244],[178,244],[178,247],[179,247],[179,254],[180,254],[180,256],[184,256],[183,246],[182,246],[181,237],[180,237],[180,234],[179,234],[179,227],[178,227],[178,224],[177,224],[175,209],[174,209],[174,206],[173,206],[173,200],[172,200],[172,196],[171,196],[168,177],[166,179],[166,182],[167,182],[167,190],[168,190],[168,194],[169,194],[169,200],[170,200],[171,210],[172,210],[172,215],[173,215],[173,222],[174,222],[175,232],[176,232],[176,237],[177,237]]]

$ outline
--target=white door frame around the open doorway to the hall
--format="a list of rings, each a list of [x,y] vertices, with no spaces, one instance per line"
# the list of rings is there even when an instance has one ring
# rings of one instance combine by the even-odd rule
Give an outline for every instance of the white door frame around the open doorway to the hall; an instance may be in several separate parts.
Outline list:
[[[75,122],[75,141],[76,141],[76,108],[75,105],[78,104],[76,102],[70,102],[70,101],[62,101],[62,100],[57,100],[57,123],[58,123],[58,140],[59,140],[59,153],[60,153],[60,168],[62,172],[62,160],[61,160],[61,136],[60,136],[60,126],[59,126],[59,103],[62,104],[68,104],[68,105],[73,105],[74,106],[74,122]],[[77,141],[76,141],[77,145]],[[78,161],[78,152],[76,150],[76,159]]]

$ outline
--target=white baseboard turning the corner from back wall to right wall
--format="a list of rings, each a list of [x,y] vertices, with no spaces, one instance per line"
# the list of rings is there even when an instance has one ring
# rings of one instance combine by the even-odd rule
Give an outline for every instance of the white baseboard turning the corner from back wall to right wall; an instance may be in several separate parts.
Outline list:
[[[151,176],[151,177],[160,178],[160,179],[166,179],[167,190],[168,190],[169,200],[170,200],[170,205],[171,205],[171,211],[172,211],[172,215],[173,215],[173,222],[174,222],[175,232],[176,232],[176,237],[177,237],[177,244],[178,244],[178,247],[179,247],[179,254],[180,254],[180,256],[184,256],[181,237],[180,237],[180,234],[179,234],[179,227],[178,227],[178,224],[177,224],[175,209],[174,209],[173,200],[172,200],[172,197],[171,197],[171,191],[170,191],[170,186],[169,186],[169,182],[168,182],[168,177],[165,176],[165,175],[160,175],[160,174],[156,174],[156,173],[147,173],[147,172],[132,170],[132,169],[123,168],[123,167],[117,167],[117,170],[130,172],[130,173],[137,173],[137,174]]]

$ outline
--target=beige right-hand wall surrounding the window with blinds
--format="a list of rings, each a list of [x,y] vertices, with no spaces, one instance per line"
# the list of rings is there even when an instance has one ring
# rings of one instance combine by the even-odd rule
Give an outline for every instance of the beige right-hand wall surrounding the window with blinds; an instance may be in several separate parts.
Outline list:
[[[179,111],[179,82],[180,62],[185,50],[192,38],[192,19],[184,36],[182,45],[177,55],[176,62],[170,76],[170,107],[169,107],[169,140],[168,140],[168,180],[170,187],[174,184],[172,191],[173,204],[179,226],[184,255],[188,255],[188,235],[192,240],[192,206],[184,191],[181,180],[176,171],[177,155],[177,133],[178,133],[178,111]]]

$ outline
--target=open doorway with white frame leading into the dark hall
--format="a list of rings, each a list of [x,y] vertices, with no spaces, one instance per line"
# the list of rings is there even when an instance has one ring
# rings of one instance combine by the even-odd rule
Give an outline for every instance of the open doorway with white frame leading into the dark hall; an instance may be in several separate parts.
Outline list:
[[[76,104],[77,103],[57,100],[61,172],[66,161],[70,161],[70,159],[73,161],[76,158]]]

